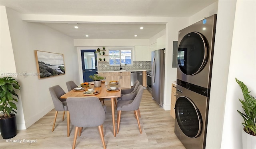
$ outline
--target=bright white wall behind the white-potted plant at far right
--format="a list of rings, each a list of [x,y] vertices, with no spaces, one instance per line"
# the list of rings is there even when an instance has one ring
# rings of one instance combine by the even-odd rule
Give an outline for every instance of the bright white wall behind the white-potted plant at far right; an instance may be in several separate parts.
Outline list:
[[[244,99],[235,77],[247,85],[256,96],[256,1],[237,0],[234,32],[228,73],[228,86],[221,148],[242,148],[243,111],[239,99]]]

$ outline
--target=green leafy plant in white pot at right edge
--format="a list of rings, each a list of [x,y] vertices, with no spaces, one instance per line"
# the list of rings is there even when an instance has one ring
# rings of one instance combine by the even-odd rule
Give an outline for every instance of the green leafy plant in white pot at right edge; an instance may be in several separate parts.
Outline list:
[[[244,95],[244,100],[239,99],[242,103],[244,113],[238,111],[238,113],[244,119],[244,128],[242,130],[243,149],[256,147],[256,98],[250,95],[247,86],[236,79]],[[251,140],[248,142],[248,140]]]

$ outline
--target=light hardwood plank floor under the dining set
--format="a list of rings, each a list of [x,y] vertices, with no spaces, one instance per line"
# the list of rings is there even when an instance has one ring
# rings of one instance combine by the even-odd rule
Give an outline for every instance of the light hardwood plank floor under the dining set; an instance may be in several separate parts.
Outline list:
[[[170,111],[159,108],[146,89],[140,104],[142,134],[134,112],[122,111],[119,133],[114,137],[110,101],[105,101],[105,105],[107,117],[103,128],[107,149],[185,149],[174,134],[174,119]],[[62,112],[59,112],[52,132],[54,113],[53,109],[28,129],[18,130],[16,137],[9,140],[20,140],[21,143],[6,142],[1,137],[0,149],[72,149],[75,127],[70,123],[70,137],[67,137],[67,118],[65,115],[62,121]],[[24,142],[26,140],[36,140],[36,143]],[[103,149],[98,127],[82,129],[76,149]]]

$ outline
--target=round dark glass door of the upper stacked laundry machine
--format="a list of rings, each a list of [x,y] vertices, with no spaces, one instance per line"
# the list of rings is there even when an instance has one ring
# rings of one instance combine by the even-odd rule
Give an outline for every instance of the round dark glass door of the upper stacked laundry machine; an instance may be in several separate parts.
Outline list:
[[[207,62],[207,47],[198,32],[186,34],[180,41],[177,55],[180,70],[186,75],[195,75]]]

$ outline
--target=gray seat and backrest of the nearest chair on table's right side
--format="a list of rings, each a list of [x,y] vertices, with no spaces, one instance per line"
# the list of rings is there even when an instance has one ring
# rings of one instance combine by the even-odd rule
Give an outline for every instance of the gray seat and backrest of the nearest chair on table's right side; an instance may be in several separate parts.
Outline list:
[[[122,110],[124,110],[124,111],[138,110],[139,107],[140,107],[140,102],[141,102],[141,99],[142,99],[143,90],[144,90],[143,86],[140,85],[138,87],[138,89],[136,90],[136,96],[134,97],[132,103],[129,103],[127,105],[123,105]]]

